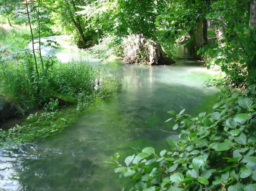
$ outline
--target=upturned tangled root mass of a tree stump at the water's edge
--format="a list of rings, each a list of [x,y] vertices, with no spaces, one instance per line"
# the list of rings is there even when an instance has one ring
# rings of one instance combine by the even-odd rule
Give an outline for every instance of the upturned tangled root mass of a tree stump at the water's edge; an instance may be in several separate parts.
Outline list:
[[[167,58],[159,42],[143,35],[130,35],[123,42],[124,64],[171,65],[174,61]]]

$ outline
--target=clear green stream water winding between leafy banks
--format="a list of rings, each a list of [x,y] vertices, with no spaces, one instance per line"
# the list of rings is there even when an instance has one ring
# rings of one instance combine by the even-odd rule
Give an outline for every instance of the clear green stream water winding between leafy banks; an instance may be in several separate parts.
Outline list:
[[[147,146],[168,148],[168,137],[177,139],[169,110],[194,113],[214,88],[202,88],[211,74],[195,62],[180,60],[173,66],[122,65],[118,61],[100,63],[66,42],[52,37],[62,49],[44,49],[62,61],[89,60],[104,75],[119,79],[121,92],[89,107],[72,126],[58,135],[36,140],[19,148],[0,151],[2,191],[119,191],[128,180],[119,179],[110,160],[115,152],[121,161]],[[200,107],[201,108],[201,107]]]

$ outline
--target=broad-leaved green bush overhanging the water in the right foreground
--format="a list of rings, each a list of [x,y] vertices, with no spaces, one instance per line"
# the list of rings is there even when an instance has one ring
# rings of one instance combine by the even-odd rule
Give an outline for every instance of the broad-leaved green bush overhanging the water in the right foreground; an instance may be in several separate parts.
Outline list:
[[[115,172],[135,181],[130,191],[256,190],[255,87],[225,95],[212,113],[195,118],[169,111],[166,122],[176,122],[180,139],[168,139],[160,153],[147,147],[128,156],[124,166],[115,153]]]

